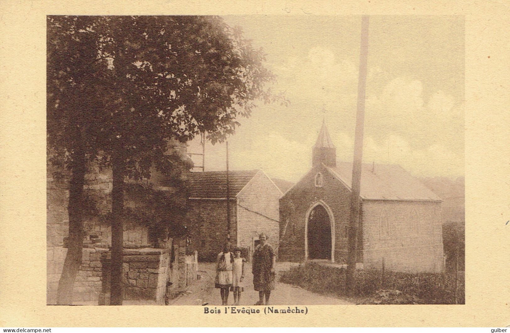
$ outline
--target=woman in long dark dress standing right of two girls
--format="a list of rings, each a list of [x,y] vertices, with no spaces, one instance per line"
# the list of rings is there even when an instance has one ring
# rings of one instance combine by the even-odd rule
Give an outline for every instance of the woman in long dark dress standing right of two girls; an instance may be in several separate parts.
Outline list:
[[[269,304],[269,296],[274,289],[276,256],[271,245],[266,243],[267,238],[265,233],[261,233],[260,244],[253,252],[253,287],[259,292],[259,301],[255,305],[264,305],[264,296],[266,305]]]

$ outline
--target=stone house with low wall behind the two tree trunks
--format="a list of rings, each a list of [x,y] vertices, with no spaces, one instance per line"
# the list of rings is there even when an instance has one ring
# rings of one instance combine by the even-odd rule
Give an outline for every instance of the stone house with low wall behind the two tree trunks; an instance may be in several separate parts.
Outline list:
[[[185,150],[182,153],[185,154]],[[95,163],[87,165],[87,170],[84,186],[87,205],[83,221],[84,249],[82,266],[75,282],[73,304],[97,304],[101,291],[104,291],[105,287],[109,288],[105,285],[107,281],[104,278],[104,274],[109,272],[108,269],[103,269],[103,264],[111,246],[111,226],[105,217],[111,212],[112,172],[109,168],[99,168]],[[67,252],[68,178],[65,170],[55,167],[48,159],[47,304],[56,302],[57,287]],[[168,185],[158,174],[155,174],[151,181],[155,182],[155,185]],[[169,186],[162,186],[160,189],[168,195],[174,192]],[[124,193],[126,208],[136,210],[144,205],[144,200],[146,198],[135,191],[126,189]],[[162,304],[167,293],[175,294],[185,289],[192,282],[191,277],[196,278],[196,254],[186,254],[185,239],[155,239],[149,226],[136,219],[124,221],[123,236],[125,300],[145,300]]]

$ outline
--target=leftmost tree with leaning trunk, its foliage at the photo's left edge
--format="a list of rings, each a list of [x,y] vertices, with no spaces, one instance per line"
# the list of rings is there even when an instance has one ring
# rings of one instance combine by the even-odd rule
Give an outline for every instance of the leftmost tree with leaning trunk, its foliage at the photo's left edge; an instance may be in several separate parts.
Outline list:
[[[91,110],[101,108],[94,94],[103,70],[97,57],[94,19],[48,17],[47,20],[47,148],[53,163],[66,165],[69,179],[68,250],[57,290],[57,303],[70,304],[74,280],[82,263],[85,131]]]

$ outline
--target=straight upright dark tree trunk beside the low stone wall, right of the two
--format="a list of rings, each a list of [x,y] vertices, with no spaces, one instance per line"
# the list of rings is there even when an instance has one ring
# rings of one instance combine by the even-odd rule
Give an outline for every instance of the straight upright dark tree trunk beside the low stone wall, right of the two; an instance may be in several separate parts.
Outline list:
[[[112,153],[112,261],[110,305],[122,305],[122,248],[124,208],[124,159],[119,149]]]

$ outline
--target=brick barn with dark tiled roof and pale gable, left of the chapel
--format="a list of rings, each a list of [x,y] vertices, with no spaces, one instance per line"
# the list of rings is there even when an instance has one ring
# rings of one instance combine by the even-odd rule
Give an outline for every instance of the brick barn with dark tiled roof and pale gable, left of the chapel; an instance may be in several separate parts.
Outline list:
[[[229,204],[225,171],[189,175],[186,227],[189,248],[198,251],[199,260],[215,260],[228,234],[231,243],[250,251],[261,232],[271,244],[278,243],[278,199],[282,196],[278,186],[261,170],[229,171],[228,183]]]

